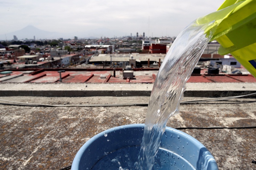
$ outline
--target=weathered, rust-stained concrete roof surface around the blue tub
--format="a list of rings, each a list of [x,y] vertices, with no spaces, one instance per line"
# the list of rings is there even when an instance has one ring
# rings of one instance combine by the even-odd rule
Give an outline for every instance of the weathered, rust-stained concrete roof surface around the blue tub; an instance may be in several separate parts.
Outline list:
[[[54,105],[148,103],[134,97],[1,97]],[[198,99],[185,97],[184,100]],[[180,105],[169,127],[256,126],[256,100]],[[79,148],[111,127],[144,123],[147,107],[26,107],[0,105],[0,169],[61,169],[72,164]],[[204,144],[220,170],[255,170],[256,129],[182,130]]]

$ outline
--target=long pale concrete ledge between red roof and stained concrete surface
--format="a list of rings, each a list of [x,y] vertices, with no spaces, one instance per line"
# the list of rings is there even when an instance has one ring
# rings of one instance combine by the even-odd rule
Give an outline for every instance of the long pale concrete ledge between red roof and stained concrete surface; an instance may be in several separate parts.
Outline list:
[[[0,96],[150,96],[154,84],[1,83]],[[225,97],[256,93],[256,83],[187,83],[186,97]]]

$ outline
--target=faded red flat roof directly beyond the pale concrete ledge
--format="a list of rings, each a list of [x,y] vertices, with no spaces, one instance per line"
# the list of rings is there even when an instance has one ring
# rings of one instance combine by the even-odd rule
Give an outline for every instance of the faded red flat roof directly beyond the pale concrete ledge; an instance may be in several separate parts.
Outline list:
[[[24,71],[34,71],[32,74],[26,74],[24,81],[18,79],[17,82],[59,82],[59,70],[65,69],[14,69],[11,75],[23,74]],[[122,69],[117,68],[121,71]],[[143,70],[143,69],[140,69]],[[3,70],[6,71],[6,70]],[[143,70],[143,71],[146,71]],[[137,71],[134,71],[136,73]],[[88,83],[154,83],[155,74],[136,75],[133,79],[123,79],[122,74],[113,75],[112,69],[66,69],[66,72],[61,73],[63,82],[88,82]],[[105,75],[106,78],[101,78]],[[25,74],[24,74],[25,77]],[[30,78],[31,79],[30,79]],[[29,80],[29,81],[28,81]],[[5,80],[6,81],[6,80]],[[3,82],[5,82],[3,81]],[[1,82],[1,77],[0,77]],[[15,78],[12,79],[15,82]],[[247,74],[192,74],[187,82],[256,82],[252,75]]]

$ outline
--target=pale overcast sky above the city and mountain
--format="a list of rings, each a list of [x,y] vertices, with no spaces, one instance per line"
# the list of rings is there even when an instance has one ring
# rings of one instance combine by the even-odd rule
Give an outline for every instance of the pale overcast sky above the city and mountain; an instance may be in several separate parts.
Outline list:
[[[26,26],[66,36],[177,36],[224,0],[0,0],[0,34]],[[64,36],[65,37],[65,36]]]

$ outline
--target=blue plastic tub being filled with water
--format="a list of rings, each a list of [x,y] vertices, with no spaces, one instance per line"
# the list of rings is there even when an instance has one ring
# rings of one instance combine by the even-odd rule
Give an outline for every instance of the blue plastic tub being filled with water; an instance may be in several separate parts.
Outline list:
[[[143,132],[144,124],[134,124],[93,136],[76,154],[71,170],[134,169]],[[215,159],[203,144],[171,127],[166,127],[155,160],[153,169],[157,170],[218,170]]]

